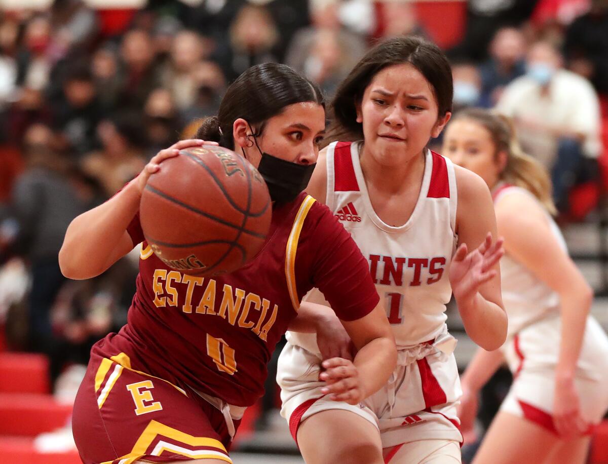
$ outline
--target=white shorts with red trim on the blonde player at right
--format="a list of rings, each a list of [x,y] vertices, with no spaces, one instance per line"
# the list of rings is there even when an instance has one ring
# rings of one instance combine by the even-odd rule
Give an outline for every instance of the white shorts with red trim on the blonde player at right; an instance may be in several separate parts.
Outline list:
[[[523,328],[501,348],[514,380],[500,410],[524,417],[551,432],[555,369],[561,318],[542,319]],[[581,347],[576,375],[582,416],[597,424],[608,410],[608,338],[593,317]]]

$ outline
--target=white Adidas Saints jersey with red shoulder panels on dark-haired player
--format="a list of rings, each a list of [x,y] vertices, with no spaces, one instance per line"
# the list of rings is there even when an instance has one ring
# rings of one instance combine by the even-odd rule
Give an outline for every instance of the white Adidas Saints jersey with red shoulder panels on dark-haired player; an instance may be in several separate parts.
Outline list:
[[[371,206],[359,163],[362,142],[334,142],[327,150],[326,204],[350,232],[370,265],[398,348],[432,341],[444,330],[452,289],[457,190],[454,165],[426,150],[418,201],[406,224],[385,224]],[[328,303],[318,289],[305,300]],[[291,344],[318,353],[316,334],[289,333]]]

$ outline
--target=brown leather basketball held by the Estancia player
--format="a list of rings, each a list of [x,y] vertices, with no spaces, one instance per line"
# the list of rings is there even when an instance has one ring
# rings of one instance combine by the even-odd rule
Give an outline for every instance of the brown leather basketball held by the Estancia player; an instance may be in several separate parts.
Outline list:
[[[139,215],[144,237],[165,265],[217,275],[260,251],[272,208],[257,169],[232,150],[203,145],[162,162],[143,190]]]

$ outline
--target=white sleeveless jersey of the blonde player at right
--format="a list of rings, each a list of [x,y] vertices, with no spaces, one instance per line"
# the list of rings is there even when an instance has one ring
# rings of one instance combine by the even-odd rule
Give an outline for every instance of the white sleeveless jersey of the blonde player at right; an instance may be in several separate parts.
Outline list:
[[[494,204],[497,204],[506,195],[512,195],[513,193],[523,193],[539,203],[528,190],[503,184],[494,191]],[[547,213],[547,220],[551,232],[559,241],[561,248],[568,252],[564,237],[549,213]],[[530,269],[508,254],[505,254],[500,260],[500,284],[506,315],[509,317],[508,337],[513,336],[513,334],[537,320],[559,314],[559,295],[536,277]]]

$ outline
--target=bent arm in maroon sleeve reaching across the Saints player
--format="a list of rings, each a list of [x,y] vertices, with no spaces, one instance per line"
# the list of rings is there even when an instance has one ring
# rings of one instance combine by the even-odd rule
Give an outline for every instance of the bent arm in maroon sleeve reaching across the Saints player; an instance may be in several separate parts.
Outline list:
[[[320,379],[324,393],[333,400],[358,404],[384,385],[395,369],[395,338],[384,306],[371,280],[367,260],[348,232],[326,207],[316,237],[326,237],[316,246],[313,283],[358,350],[351,362],[344,358],[323,361]]]

